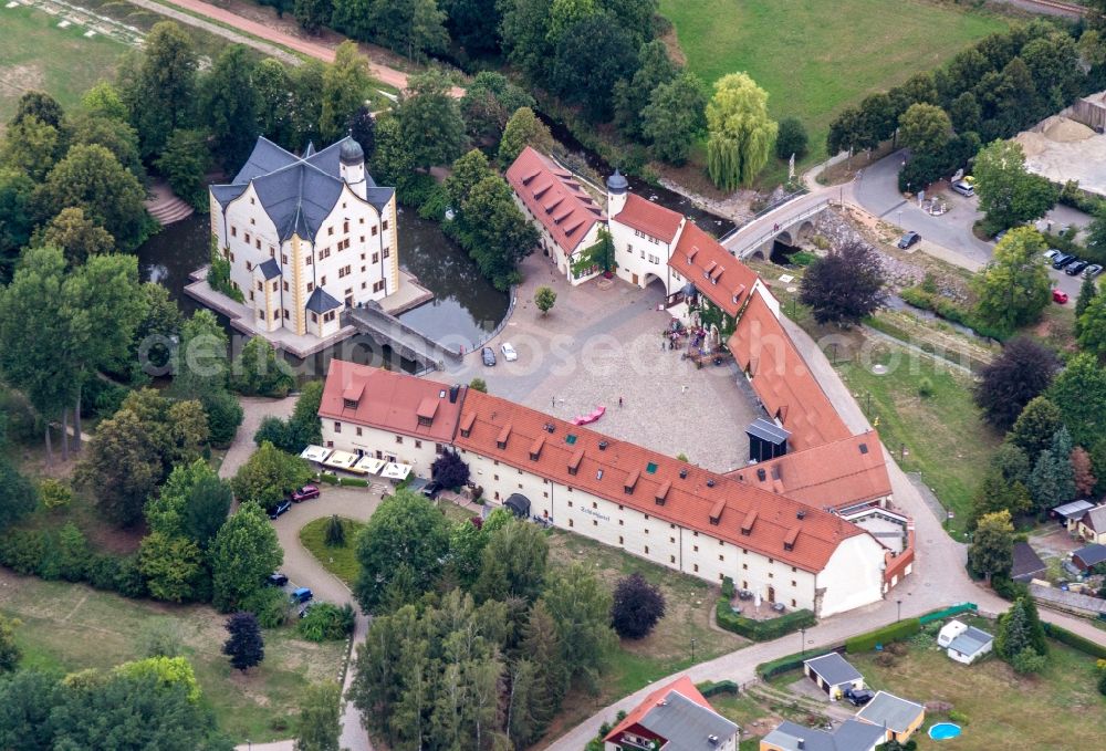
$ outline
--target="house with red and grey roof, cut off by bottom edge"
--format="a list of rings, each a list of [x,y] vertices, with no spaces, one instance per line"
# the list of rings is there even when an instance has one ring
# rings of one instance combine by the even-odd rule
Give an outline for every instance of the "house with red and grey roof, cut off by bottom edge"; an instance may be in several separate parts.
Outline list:
[[[741,729],[682,676],[649,693],[603,739],[605,751],[737,751]]]

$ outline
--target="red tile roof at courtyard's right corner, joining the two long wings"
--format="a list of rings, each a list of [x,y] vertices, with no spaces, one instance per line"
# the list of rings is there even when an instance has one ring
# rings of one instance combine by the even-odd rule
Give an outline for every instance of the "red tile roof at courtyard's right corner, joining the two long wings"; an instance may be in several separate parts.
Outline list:
[[[887,498],[891,481],[874,430],[727,473],[818,509]]]

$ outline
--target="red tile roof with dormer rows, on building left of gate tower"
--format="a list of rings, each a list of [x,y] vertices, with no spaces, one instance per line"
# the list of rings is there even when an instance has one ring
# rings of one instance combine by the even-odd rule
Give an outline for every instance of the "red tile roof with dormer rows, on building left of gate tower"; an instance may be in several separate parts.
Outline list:
[[[530,146],[508,168],[507,181],[567,254],[577,250],[595,222],[607,219],[572,173]]]

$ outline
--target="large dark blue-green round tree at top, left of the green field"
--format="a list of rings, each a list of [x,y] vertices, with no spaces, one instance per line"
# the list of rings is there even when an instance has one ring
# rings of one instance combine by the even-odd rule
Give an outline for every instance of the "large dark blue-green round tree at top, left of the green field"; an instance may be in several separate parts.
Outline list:
[[[551,12],[555,9],[556,2]],[[591,13],[565,27],[554,42],[550,84],[589,121],[605,123],[613,114],[617,82],[633,76],[637,65],[633,34],[609,13]]]

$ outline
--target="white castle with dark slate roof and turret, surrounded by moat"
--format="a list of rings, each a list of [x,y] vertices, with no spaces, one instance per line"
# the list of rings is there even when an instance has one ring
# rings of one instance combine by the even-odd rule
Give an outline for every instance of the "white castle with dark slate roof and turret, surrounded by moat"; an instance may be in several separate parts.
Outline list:
[[[373,181],[352,137],[302,157],[258,138],[210,190],[212,237],[258,331],[326,337],[343,306],[399,289],[395,188]]]

